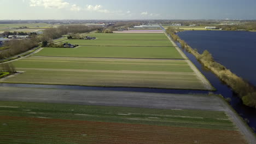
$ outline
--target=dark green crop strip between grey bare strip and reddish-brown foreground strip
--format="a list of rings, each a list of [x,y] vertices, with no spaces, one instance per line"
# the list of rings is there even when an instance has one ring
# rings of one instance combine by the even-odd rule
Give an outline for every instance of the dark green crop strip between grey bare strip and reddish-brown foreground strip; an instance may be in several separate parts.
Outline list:
[[[225,112],[0,101],[0,115],[236,130]],[[25,111],[29,110],[29,111]]]

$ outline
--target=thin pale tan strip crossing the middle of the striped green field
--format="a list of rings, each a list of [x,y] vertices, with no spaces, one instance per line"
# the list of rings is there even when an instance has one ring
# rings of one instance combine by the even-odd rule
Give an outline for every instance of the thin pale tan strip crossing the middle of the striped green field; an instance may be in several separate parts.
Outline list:
[[[19,70],[45,70],[45,71],[79,71],[93,73],[128,73],[128,74],[164,74],[164,75],[195,75],[193,72],[172,71],[137,71],[137,70],[90,70],[90,69],[49,69],[49,68],[16,68]]]

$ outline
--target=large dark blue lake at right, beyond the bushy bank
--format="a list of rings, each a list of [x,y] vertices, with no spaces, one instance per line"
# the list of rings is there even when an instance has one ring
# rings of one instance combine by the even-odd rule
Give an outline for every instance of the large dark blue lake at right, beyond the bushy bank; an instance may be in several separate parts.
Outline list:
[[[178,35],[199,53],[208,50],[217,62],[256,86],[256,32],[184,31]]]

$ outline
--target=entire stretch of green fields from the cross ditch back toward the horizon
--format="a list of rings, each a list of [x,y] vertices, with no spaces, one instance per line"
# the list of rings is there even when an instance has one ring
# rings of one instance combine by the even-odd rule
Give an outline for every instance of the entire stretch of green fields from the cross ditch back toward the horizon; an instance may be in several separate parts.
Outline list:
[[[0,82],[213,89],[176,47],[172,46],[170,40],[160,40],[164,39],[163,37],[167,38],[164,34],[95,33],[96,35],[102,39],[67,41],[79,45],[91,43],[88,45],[95,46],[79,46],[74,49],[47,47],[33,56],[15,61],[16,69],[24,73],[7,77]],[[160,37],[159,40],[151,40],[154,35]],[[120,39],[115,40],[117,37]],[[132,40],[132,37],[136,37],[137,40]]]

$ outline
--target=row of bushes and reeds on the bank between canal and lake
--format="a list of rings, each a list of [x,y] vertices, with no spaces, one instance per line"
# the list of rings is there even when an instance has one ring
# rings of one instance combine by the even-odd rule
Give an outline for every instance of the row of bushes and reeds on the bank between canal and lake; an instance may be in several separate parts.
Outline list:
[[[229,69],[226,69],[222,64],[214,61],[211,53],[207,50],[200,54],[197,50],[192,49],[192,47],[176,35],[176,29],[169,27],[166,29],[166,32],[171,35],[173,40],[181,43],[181,46],[192,53],[206,68],[212,70],[220,80],[230,86],[243,100],[243,104],[256,108],[256,88],[254,86],[232,73]]]

